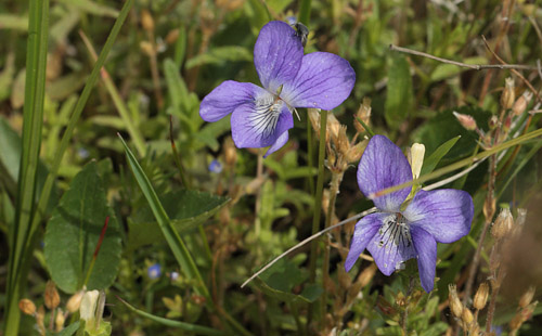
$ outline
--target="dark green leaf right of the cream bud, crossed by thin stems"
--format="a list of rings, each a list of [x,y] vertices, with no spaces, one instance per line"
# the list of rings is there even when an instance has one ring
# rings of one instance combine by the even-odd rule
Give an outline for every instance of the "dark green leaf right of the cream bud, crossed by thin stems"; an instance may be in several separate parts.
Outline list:
[[[476,148],[478,141],[476,132],[464,129],[453,116],[453,111],[473,116],[478,125],[487,125],[491,117],[489,112],[479,107],[463,106],[440,112],[420,127],[412,138],[413,141],[423,143],[428,153],[434,153],[441,143],[461,135],[455,145],[448,152],[447,158],[441,160],[442,164],[468,156]]]

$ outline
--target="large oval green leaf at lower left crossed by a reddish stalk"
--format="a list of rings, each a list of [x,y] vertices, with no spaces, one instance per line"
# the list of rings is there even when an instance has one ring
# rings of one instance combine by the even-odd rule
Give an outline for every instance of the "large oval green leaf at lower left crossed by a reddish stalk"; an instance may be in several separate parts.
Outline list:
[[[98,165],[90,161],[74,178],[47,224],[47,266],[53,281],[66,293],[83,285],[107,216],[107,231],[87,287],[107,288],[116,277],[121,253],[119,228],[102,185]]]

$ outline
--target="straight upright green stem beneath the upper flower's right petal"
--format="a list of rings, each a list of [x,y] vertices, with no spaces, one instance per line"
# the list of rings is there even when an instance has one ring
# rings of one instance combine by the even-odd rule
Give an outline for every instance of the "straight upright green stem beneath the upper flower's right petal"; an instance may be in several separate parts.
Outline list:
[[[315,234],[320,229],[320,215],[322,212],[322,192],[324,189],[324,157],[325,157],[325,132],[327,125],[327,111],[322,109],[320,113],[320,145],[318,153],[318,181],[317,194],[314,195],[314,216],[312,217],[312,234]],[[314,283],[317,279],[317,257],[318,257],[318,241],[314,240],[310,245],[310,263],[309,263],[309,282]],[[312,315],[313,305],[309,306],[308,322]]]

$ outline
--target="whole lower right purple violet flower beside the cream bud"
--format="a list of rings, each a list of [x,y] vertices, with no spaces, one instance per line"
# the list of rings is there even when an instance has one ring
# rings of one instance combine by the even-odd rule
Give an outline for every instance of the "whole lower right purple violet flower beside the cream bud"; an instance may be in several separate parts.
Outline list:
[[[388,138],[374,135],[358,166],[361,192],[369,196],[410,180],[411,166],[401,150]],[[365,248],[385,275],[415,257],[422,287],[429,293],[435,283],[437,242],[452,243],[470,231],[473,198],[461,190],[421,190],[401,210],[411,190],[404,188],[373,199],[379,211],[356,224],[345,269],[349,271]]]

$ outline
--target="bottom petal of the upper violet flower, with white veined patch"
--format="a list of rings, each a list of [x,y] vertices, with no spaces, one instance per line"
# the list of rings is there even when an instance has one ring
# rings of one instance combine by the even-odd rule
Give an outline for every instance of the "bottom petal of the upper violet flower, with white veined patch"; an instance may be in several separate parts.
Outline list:
[[[288,107],[283,102],[279,104],[280,112],[257,108],[256,103],[235,108],[231,124],[233,142],[237,148],[270,146],[294,127],[294,118]]]

